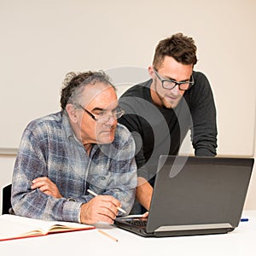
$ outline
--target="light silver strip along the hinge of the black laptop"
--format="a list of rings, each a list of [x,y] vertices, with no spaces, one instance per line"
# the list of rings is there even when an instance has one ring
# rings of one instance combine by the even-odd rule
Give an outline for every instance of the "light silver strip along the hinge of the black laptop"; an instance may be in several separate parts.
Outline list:
[[[233,226],[229,223],[219,224],[192,224],[192,225],[172,225],[172,226],[160,226],[154,232],[163,231],[177,231],[177,230],[212,230],[212,229],[232,229]]]

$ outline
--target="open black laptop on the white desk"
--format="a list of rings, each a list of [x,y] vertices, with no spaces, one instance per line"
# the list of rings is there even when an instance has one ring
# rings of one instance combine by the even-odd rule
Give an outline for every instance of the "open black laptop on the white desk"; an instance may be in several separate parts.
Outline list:
[[[116,218],[139,236],[224,234],[241,219],[253,158],[160,155],[148,218]]]

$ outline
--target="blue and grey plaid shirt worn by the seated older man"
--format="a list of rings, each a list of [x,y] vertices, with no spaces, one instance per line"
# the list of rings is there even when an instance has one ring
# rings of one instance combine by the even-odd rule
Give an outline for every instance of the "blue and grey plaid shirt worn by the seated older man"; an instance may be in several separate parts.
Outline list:
[[[94,144],[88,156],[83,144],[74,137],[66,113],[33,120],[22,135],[15,160],[15,214],[79,222],[82,203],[92,198],[87,189],[99,195],[113,195],[130,212],[137,186],[134,154],[131,133],[123,125],[117,125],[113,143]],[[49,177],[63,197],[57,199],[39,189],[32,190],[36,177]]]

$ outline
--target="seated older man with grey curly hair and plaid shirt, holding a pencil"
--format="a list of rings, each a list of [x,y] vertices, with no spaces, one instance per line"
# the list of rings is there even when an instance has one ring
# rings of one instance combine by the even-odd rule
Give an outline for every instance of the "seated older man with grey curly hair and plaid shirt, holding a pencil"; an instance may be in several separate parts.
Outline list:
[[[102,72],[69,74],[61,112],[27,125],[15,161],[15,214],[45,220],[113,223],[135,198],[135,143],[117,119],[124,113]],[[93,197],[87,191],[98,196]]]

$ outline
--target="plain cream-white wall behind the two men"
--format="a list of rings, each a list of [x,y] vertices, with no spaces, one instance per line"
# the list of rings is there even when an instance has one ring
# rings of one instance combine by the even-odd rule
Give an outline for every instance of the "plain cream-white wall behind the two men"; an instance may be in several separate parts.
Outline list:
[[[175,32],[198,46],[218,110],[218,154],[255,156],[256,1],[0,1],[0,153],[34,118],[58,111],[69,71],[146,69]],[[0,157],[0,185],[11,156]],[[247,207],[256,208],[255,175]]]

